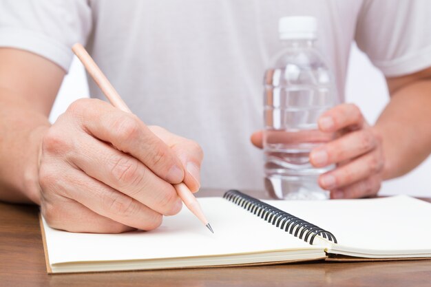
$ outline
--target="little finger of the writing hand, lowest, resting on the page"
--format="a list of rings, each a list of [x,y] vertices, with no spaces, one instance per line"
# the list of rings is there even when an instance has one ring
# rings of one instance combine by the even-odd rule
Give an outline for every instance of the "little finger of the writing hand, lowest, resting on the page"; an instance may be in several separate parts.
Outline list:
[[[41,203],[41,213],[49,226],[69,232],[123,233],[135,228],[98,215],[82,204],[54,195],[56,198]]]

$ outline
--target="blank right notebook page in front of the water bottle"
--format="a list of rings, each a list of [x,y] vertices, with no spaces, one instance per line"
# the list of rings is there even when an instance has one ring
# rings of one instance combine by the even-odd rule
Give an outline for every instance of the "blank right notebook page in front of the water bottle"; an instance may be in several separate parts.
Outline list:
[[[431,254],[431,204],[392,198],[326,201],[267,201],[337,237],[337,248],[373,254]]]

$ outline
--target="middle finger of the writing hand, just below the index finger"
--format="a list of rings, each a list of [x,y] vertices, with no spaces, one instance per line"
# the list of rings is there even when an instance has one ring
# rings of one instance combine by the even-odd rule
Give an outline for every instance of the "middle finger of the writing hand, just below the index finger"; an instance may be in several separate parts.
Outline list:
[[[69,158],[88,176],[158,213],[174,215],[181,210],[182,202],[172,184],[156,176],[136,158],[85,134],[81,136],[78,145],[80,153],[71,154]],[[136,204],[130,208],[136,209]]]

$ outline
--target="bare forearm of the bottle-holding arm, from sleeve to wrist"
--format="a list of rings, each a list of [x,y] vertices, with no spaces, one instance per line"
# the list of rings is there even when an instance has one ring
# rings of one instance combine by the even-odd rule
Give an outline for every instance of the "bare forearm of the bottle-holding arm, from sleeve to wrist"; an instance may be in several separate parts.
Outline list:
[[[402,176],[431,152],[431,81],[423,79],[392,92],[374,127],[381,136],[383,178]]]

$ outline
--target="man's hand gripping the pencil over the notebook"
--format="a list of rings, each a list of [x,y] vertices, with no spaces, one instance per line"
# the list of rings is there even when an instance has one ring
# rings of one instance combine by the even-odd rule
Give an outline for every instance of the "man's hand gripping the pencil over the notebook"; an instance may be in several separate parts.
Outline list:
[[[172,184],[199,189],[202,156],[196,142],[101,100],[77,100],[43,136],[42,214],[66,231],[154,229],[182,207]]]

